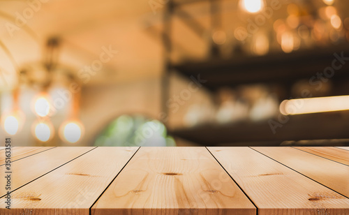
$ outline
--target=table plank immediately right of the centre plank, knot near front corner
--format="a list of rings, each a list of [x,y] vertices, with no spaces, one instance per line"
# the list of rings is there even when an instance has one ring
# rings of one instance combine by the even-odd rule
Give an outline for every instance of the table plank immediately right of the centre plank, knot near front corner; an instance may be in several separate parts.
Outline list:
[[[255,203],[259,215],[349,214],[348,198],[253,149],[208,149]]]

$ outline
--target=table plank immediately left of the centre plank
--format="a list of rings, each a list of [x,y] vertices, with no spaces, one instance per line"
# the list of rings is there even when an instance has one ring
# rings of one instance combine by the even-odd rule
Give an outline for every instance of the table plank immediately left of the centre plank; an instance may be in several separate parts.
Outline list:
[[[11,213],[86,214],[138,147],[98,147],[12,193]],[[33,200],[35,199],[35,200]],[[0,214],[7,215],[4,198]]]

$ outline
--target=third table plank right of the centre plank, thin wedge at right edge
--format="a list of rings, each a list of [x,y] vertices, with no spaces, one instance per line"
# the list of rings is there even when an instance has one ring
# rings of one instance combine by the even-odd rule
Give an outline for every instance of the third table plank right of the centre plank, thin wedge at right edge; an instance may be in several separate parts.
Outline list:
[[[349,165],[349,151],[338,149],[336,147],[294,147],[302,151],[315,154],[322,158]]]

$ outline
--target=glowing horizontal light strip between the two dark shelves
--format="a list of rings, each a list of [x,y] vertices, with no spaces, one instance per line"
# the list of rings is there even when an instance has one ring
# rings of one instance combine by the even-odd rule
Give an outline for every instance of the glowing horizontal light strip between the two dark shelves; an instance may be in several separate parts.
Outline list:
[[[284,115],[349,110],[349,96],[290,99],[283,101],[279,109]]]

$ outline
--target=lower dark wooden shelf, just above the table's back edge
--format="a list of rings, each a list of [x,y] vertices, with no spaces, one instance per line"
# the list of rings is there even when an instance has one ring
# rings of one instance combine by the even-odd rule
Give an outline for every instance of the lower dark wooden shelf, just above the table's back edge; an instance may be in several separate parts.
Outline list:
[[[322,140],[349,138],[349,111],[289,116],[288,122],[272,132],[269,122],[244,121],[235,124],[205,124],[171,131],[171,135],[215,146],[242,142],[272,142],[285,140]],[[272,119],[278,121],[277,119]]]

